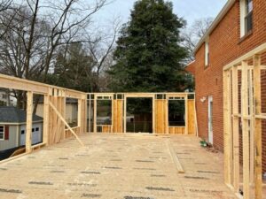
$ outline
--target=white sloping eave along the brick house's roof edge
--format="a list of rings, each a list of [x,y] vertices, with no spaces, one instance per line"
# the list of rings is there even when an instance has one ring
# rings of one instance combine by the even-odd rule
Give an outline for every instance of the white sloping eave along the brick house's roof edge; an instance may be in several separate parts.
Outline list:
[[[227,12],[231,9],[231,6],[235,4],[236,0],[228,0],[227,3],[223,6],[222,11],[219,12],[211,26],[207,29],[207,32],[201,37],[200,42],[196,45],[194,49],[194,54],[200,49],[200,46],[206,41],[209,34],[213,32],[215,27],[220,23],[220,21],[223,19],[223,17],[227,14]]]

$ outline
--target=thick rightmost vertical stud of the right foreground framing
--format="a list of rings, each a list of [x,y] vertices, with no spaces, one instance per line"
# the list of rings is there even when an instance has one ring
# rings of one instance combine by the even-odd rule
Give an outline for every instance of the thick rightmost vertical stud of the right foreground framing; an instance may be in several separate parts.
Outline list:
[[[261,94],[261,57],[254,56],[254,106],[255,116],[262,114]],[[262,199],[262,119],[255,119],[254,122],[254,147],[255,147],[255,172],[254,186],[255,198]]]

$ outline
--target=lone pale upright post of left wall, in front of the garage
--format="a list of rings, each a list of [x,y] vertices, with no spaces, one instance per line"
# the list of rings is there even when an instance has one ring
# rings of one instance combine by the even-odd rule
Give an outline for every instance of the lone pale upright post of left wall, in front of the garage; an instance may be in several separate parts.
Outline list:
[[[31,152],[32,140],[32,111],[33,111],[33,92],[27,91],[27,125],[26,125],[26,152]]]

